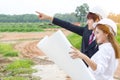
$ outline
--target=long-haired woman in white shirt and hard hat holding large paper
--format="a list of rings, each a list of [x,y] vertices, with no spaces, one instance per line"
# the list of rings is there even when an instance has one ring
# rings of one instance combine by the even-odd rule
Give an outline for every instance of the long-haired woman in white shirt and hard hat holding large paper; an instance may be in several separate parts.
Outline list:
[[[88,64],[96,80],[113,80],[116,69],[115,58],[120,58],[120,46],[114,37],[116,28],[116,24],[107,18],[95,25],[95,37],[99,50],[91,59],[77,49],[70,52],[73,59],[81,58]]]

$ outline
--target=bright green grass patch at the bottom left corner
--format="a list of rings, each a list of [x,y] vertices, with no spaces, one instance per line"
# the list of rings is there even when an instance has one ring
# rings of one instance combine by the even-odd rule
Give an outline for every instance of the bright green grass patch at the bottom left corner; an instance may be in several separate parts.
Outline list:
[[[30,59],[19,59],[4,67],[2,77],[3,80],[30,80],[29,77],[35,69],[32,69],[33,61]],[[22,76],[27,75],[27,76]]]

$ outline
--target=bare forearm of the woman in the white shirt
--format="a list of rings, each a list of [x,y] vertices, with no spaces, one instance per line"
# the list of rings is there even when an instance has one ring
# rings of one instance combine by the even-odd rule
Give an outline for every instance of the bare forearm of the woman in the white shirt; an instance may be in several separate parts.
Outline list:
[[[89,57],[84,55],[83,60],[89,65],[89,67],[94,71],[97,69],[97,64],[92,61]]]

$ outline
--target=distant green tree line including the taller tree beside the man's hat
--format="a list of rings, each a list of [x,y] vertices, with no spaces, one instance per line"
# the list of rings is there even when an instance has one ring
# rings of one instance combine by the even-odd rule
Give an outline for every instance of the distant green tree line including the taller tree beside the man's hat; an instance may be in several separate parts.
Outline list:
[[[77,6],[75,12],[60,14],[56,13],[54,16],[68,22],[84,22],[89,6],[84,3],[83,5]],[[26,23],[26,22],[48,22],[41,21],[35,14],[23,14],[23,15],[5,15],[0,14],[0,22],[15,22],[15,23]]]

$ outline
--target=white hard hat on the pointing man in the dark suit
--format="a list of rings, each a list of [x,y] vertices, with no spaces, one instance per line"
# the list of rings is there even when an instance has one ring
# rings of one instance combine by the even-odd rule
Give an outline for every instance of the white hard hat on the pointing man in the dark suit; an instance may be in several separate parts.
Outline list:
[[[107,17],[106,12],[102,8],[100,8],[99,6],[93,7],[92,9],[90,9],[89,12],[98,15],[100,18],[106,18]]]

